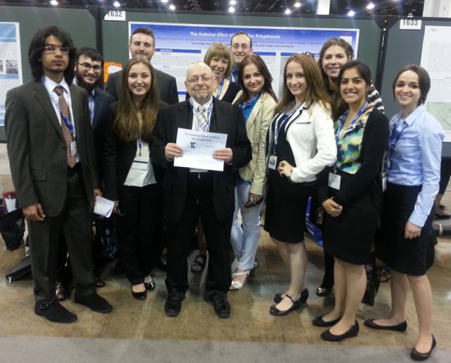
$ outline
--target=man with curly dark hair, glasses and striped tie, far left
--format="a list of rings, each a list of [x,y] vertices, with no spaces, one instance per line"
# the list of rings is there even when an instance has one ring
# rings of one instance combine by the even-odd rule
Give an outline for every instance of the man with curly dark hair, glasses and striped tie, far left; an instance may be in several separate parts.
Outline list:
[[[18,207],[28,222],[35,313],[71,323],[77,316],[55,297],[57,250],[63,233],[76,284],[75,302],[111,312],[96,293],[91,222],[99,195],[87,92],[70,85],[75,48],[68,33],[36,33],[28,59],[34,80],[6,94],[5,128]]]

